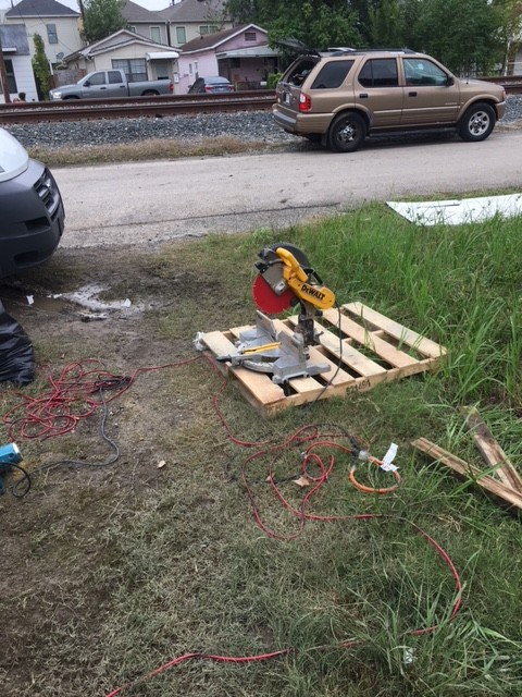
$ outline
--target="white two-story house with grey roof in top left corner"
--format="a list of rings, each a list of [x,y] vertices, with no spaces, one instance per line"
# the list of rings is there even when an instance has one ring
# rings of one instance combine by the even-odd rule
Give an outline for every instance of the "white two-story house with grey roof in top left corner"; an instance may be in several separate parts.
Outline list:
[[[21,0],[5,12],[4,22],[25,24],[32,58],[35,54],[33,37],[39,34],[49,62],[57,64],[67,53],[82,48],[79,19],[78,12],[57,0]]]

